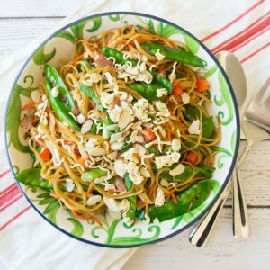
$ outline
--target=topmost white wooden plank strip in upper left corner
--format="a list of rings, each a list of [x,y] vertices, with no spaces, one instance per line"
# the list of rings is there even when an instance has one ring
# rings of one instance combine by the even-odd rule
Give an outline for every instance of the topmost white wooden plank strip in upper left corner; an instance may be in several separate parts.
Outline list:
[[[1,5],[0,17],[67,16],[85,0],[13,0]]]

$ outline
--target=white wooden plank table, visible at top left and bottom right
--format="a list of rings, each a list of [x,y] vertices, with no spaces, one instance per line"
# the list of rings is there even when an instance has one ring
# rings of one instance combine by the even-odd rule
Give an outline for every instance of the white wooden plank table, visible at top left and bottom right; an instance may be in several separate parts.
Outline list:
[[[48,31],[82,2],[1,0],[0,60]],[[140,247],[124,269],[270,269],[270,141],[252,148],[241,175],[251,226],[250,238],[239,240],[232,236],[230,197],[209,247],[201,250],[191,246],[188,229],[167,241]],[[0,269],[4,269],[1,262]]]

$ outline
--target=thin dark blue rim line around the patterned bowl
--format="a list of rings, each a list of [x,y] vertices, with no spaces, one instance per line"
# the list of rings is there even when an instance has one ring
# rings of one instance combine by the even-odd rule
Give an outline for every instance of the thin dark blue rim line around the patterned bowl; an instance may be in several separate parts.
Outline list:
[[[221,188],[220,188],[220,191],[219,193],[216,194],[215,198],[212,200],[212,202],[202,211],[202,213],[196,217],[192,222],[186,224],[183,228],[181,229],[178,229],[176,230],[175,232],[173,233],[170,233],[169,235],[163,237],[163,238],[158,238],[156,240],[153,240],[153,241],[149,241],[148,243],[140,243],[140,244],[134,244],[134,245],[126,245],[126,246],[121,246],[121,245],[107,245],[107,244],[102,244],[102,243],[96,243],[96,242],[92,242],[90,240],[86,240],[84,238],[77,238],[75,235],[67,232],[65,229],[61,229],[60,227],[58,227],[56,224],[52,223],[51,221],[49,221],[37,208],[36,206],[33,204],[33,202],[31,202],[31,200],[28,198],[28,196],[26,195],[26,193],[24,193],[23,191],[23,188],[21,187],[21,185],[19,184],[18,181],[16,181],[16,178],[15,178],[15,173],[14,173],[14,168],[12,166],[12,162],[11,162],[11,158],[9,156],[9,151],[8,151],[8,145],[7,145],[7,138],[6,138],[6,134],[7,134],[7,130],[6,130],[6,119],[7,119],[7,112],[8,112],[8,108],[9,108],[9,103],[10,103],[10,100],[11,100],[11,97],[14,93],[14,86],[17,84],[20,76],[22,75],[23,73],[23,70],[24,68],[27,66],[27,64],[30,62],[31,58],[33,57],[33,55],[37,52],[38,49],[40,49],[40,47],[42,45],[44,45],[45,43],[47,43],[49,40],[51,40],[53,37],[55,37],[58,32],[61,32],[61,31],[64,31],[66,30],[67,28],[69,28],[70,26],[76,24],[76,23],[79,23],[79,22],[82,22],[84,20],[87,20],[87,19],[92,19],[92,18],[95,18],[95,17],[98,17],[98,16],[108,16],[108,15],[121,15],[121,14],[124,14],[124,15],[138,15],[138,16],[142,16],[142,17],[146,17],[146,18],[149,18],[149,19],[154,19],[156,21],[159,21],[159,22],[162,22],[162,23],[166,23],[166,24],[170,24],[172,26],[174,26],[175,28],[179,29],[180,31],[184,31],[184,33],[186,33],[187,35],[189,35],[191,38],[193,38],[193,40],[196,40],[200,46],[206,50],[206,52],[209,54],[209,56],[213,59],[213,61],[215,62],[215,64],[217,65],[217,67],[219,67],[220,69],[220,72],[222,73],[222,76],[225,77],[225,80],[226,80],[226,83],[229,85],[229,92],[230,92],[230,95],[232,97],[232,100],[233,100],[233,105],[234,105],[234,111],[235,111],[235,116],[236,116],[236,125],[237,125],[237,136],[236,136],[236,147],[235,147],[235,152],[233,154],[233,160],[232,160],[232,163],[231,163],[231,166],[229,168],[229,173],[228,175],[226,176],[226,179],[224,181],[224,183],[222,184]],[[195,222],[197,222],[198,220],[200,220],[202,218],[202,216],[211,209],[212,205],[218,200],[218,198],[220,197],[220,194],[223,192],[225,186],[227,185],[227,183],[229,182],[229,179],[230,179],[230,176],[232,174],[232,171],[234,169],[234,166],[236,165],[236,161],[237,161],[237,157],[238,157],[238,148],[239,148],[239,141],[240,141],[240,121],[239,121],[239,112],[238,112],[238,103],[236,101],[236,96],[234,94],[234,91],[232,89],[232,86],[230,85],[230,82],[229,82],[229,78],[227,76],[227,74],[225,73],[224,69],[220,66],[220,63],[219,61],[217,60],[217,58],[215,58],[213,56],[213,54],[211,53],[210,49],[208,49],[203,43],[201,40],[198,40],[196,37],[193,36],[192,33],[190,33],[189,31],[186,31],[184,28],[182,28],[181,26],[178,26],[177,24],[175,23],[171,23],[163,18],[159,18],[157,16],[154,16],[154,15],[150,15],[150,14],[143,14],[143,13],[135,13],[135,12],[107,12],[107,13],[101,13],[101,14],[94,14],[94,15],[90,15],[90,16],[86,16],[86,17],[83,17],[81,19],[78,19],[72,23],[68,23],[66,24],[65,26],[61,27],[58,31],[55,31],[53,32],[52,34],[49,35],[49,37],[42,41],[40,46],[38,46],[30,55],[29,58],[26,59],[25,63],[23,64],[23,67],[21,68],[20,72],[18,73],[18,75],[16,76],[15,80],[14,80],[14,85],[12,86],[12,89],[11,89],[11,92],[9,94],[9,97],[8,97],[8,101],[7,101],[7,106],[6,106],[6,111],[5,111],[5,119],[4,119],[4,144],[5,144],[5,151],[6,151],[6,154],[7,154],[7,157],[8,157],[8,163],[9,163],[9,166],[11,167],[11,170],[13,172],[13,175],[14,175],[14,178],[15,178],[15,182],[16,184],[18,185],[18,187],[20,188],[21,192],[23,193],[24,197],[26,198],[26,200],[31,204],[31,206],[33,207],[33,209],[35,211],[37,211],[39,214],[40,214],[40,217],[42,217],[44,220],[46,220],[47,222],[49,222],[50,225],[52,225],[54,228],[58,229],[59,231],[61,231],[62,233],[66,234],[67,236],[71,237],[71,238],[75,238],[76,240],[79,240],[81,242],[84,242],[84,243],[87,243],[87,244],[91,244],[91,245],[94,245],[94,246],[98,246],[98,247],[112,247],[112,248],[130,248],[130,247],[140,247],[140,246],[145,246],[145,245],[150,245],[150,244],[154,244],[154,243],[158,243],[158,242],[161,242],[161,241],[164,241],[168,238],[172,238],[174,237],[175,235],[179,234],[180,232],[184,231],[185,229],[188,229],[190,228]]]

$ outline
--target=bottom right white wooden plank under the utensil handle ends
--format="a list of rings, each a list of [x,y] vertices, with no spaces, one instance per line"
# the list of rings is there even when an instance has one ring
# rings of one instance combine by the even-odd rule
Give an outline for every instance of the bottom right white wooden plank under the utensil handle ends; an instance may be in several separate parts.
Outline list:
[[[270,209],[251,210],[250,225],[250,238],[233,238],[231,212],[225,209],[209,247],[193,247],[188,241],[188,229],[156,245],[139,247],[122,269],[269,269]]]

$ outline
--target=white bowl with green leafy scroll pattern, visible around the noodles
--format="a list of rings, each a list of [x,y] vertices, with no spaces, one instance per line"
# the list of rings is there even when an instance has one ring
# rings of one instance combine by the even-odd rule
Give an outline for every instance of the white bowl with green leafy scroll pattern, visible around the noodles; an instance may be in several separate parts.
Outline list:
[[[220,185],[212,191],[211,196],[201,206],[175,219],[149,225],[137,221],[128,228],[122,220],[113,220],[108,215],[97,216],[103,222],[101,228],[85,220],[76,220],[69,211],[59,207],[57,200],[49,198],[44,191],[18,183],[27,200],[44,220],[72,238],[103,247],[137,247],[154,243],[170,238],[191,226],[220,196],[224,185],[229,181],[238,155],[239,119],[236,99],[228,77],[211,51],[192,34],[174,23],[148,14],[116,12],[96,14],[68,24],[44,40],[23,65],[14,82],[6,114],[6,148],[14,175],[31,167],[31,157],[27,152],[23,132],[19,127],[22,117],[21,108],[24,103],[29,102],[31,90],[43,80],[44,64],[50,63],[58,67],[61,65],[61,59],[71,59],[76,38],[88,39],[126,23],[149,25],[151,31],[159,35],[181,40],[195,55],[207,61],[204,76],[211,84],[212,101],[208,109],[211,114],[219,116],[221,123],[222,139],[219,146],[215,148],[216,170],[213,175],[213,179]]]

